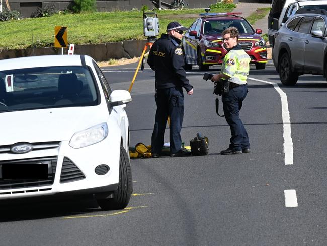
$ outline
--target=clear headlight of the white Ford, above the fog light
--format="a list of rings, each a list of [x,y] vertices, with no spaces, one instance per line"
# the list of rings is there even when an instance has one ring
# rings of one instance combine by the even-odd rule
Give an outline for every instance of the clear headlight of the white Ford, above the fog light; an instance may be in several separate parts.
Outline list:
[[[80,132],[74,133],[69,141],[69,146],[74,149],[96,144],[108,136],[107,123],[102,123]]]

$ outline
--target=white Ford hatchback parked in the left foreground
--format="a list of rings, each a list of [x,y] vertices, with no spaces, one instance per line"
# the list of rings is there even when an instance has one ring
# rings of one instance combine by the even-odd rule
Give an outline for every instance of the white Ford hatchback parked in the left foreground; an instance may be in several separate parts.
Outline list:
[[[94,194],[125,208],[130,101],[86,55],[0,60],[0,200]]]

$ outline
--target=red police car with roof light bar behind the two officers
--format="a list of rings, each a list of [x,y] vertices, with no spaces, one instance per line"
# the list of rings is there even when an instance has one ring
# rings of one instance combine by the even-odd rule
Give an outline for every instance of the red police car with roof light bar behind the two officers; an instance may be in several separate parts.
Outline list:
[[[207,10],[206,10],[207,11]],[[254,30],[240,12],[203,13],[186,31],[182,46],[185,53],[185,69],[191,70],[199,65],[201,71],[208,70],[210,65],[220,65],[228,52],[222,42],[222,31],[236,27],[239,31],[238,43],[251,58],[250,64],[256,69],[265,69],[267,50],[261,29]]]

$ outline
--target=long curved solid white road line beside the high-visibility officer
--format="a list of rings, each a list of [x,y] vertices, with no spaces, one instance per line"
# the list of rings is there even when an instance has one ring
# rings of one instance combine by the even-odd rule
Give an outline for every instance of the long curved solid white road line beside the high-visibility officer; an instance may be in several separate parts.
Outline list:
[[[278,84],[274,82],[268,82],[264,80],[257,80],[254,78],[249,78],[250,80],[259,81],[266,84],[271,84],[274,86],[275,90],[279,93],[282,101],[282,119],[283,119],[283,137],[284,137],[284,162],[285,165],[293,165],[293,141],[291,137],[291,121],[290,113],[288,111],[287,96],[285,92],[279,88]]]

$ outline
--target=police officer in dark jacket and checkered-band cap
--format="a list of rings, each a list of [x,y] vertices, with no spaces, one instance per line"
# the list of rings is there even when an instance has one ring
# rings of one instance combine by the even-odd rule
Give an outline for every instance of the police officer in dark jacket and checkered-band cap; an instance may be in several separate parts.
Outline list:
[[[193,94],[193,86],[186,78],[184,55],[181,46],[183,31],[187,30],[178,22],[167,26],[167,34],[152,45],[147,63],[155,71],[156,113],[151,138],[152,158],[159,157],[163,147],[163,135],[169,116],[170,156],[190,156],[191,152],[181,149],[181,129],[184,116],[183,87],[188,95]]]

